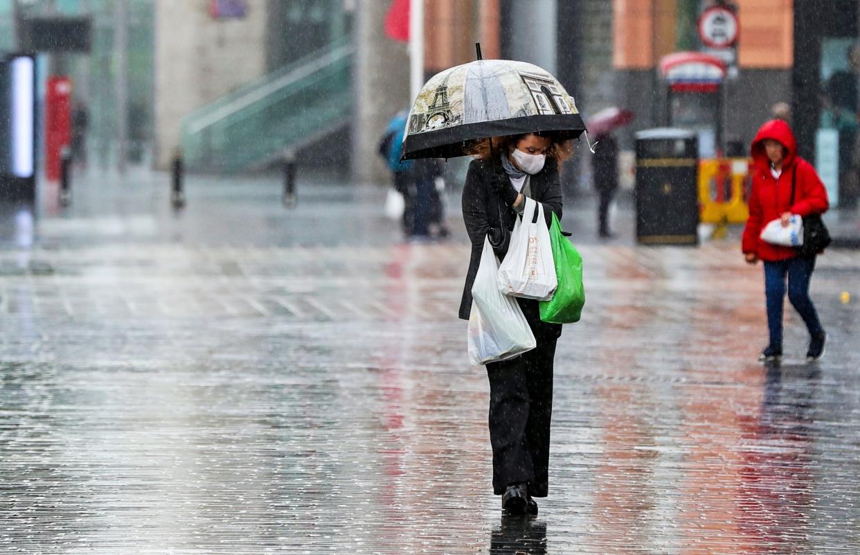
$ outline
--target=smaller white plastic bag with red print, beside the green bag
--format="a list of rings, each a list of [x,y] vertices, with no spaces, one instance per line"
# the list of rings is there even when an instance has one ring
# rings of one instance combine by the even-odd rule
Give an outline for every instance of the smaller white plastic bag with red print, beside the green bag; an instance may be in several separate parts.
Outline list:
[[[526,197],[523,217],[513,224],[510,246],[499,268],[499,290],[513,297],[550,300],[557,285],[544,206]]]

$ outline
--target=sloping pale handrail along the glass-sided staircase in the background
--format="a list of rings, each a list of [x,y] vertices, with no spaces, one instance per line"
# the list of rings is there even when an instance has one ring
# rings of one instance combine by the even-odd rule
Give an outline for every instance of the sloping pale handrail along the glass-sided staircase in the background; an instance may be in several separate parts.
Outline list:
[[[305,61],[301,65],[298,65],[298,63],[291,65],[292,71],[287,71],[286,74],[281,77],[277,77],[266,84],[260,85],[260,82],[251,83],[243,90],[234,93],[234,95],[237,96],[222,106],[218,106],[217,108],[212,106],[204,107],[199,110],[195,110],[196,114],[195,112],[188,114],[187,117],[184,118],[188,122],[186,131],[190,134],[200,133],[200,131],[206,127],[215,125],[218,121],[225,120],[230,117],[230,115],[236,114],[244,108],[248,108],[250,105],[261,101],[263,98],[273,94],[279,89],[284,89],[292,83],[296,83],[304,77],[308,77],[314,72],[321,70],[327,65],[333,64],[340,59],[347,58],[352,55],[353,52],[354,46],[352,44],[347,44],[336,47],[321,56],[311,54],[303,60],[312,58],[312,61]],[[299,60],[299,62],[302,62],[303,60]],[[271,76],[269,78],[271,78]],[[200,114],[200,112],[209,113],[204,115]]]

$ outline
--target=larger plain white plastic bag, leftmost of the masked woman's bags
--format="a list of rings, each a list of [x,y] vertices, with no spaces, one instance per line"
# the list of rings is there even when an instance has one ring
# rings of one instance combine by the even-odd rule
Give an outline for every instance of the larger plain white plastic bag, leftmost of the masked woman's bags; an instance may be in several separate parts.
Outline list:
[[[499,292],[498,270],[499,259],[485,238],[469,314],[469,361],[475,366],[511,359],[537,345],[517,300]]]

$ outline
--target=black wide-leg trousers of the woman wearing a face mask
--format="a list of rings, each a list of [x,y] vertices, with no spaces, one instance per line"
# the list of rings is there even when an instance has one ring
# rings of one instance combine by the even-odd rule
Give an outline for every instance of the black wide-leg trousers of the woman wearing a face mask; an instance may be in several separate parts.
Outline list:
[[[527,482],[531,496],[545,497],[549,487],[552,364],[561,326],[539,321],[537,301],[520,305],[537,347],[487,365],[493,491],[501,495],[507,484]],[[535,318],[537,322],[533,322]]]

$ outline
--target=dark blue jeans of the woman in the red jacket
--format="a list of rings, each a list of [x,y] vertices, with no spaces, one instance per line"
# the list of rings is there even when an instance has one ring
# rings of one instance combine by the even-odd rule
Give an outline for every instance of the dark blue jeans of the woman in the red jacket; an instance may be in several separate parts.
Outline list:
[[[767,297],[767,326],[771,330],[771,345],[783,346],[783,301],[785,278],[789,281],[789,301],[807,324],[810,336],[824,332],[818,312],[809,299],[809,280],[815,269],[814,256],[795,256],[779,262],[765,262],[765,296]]]

